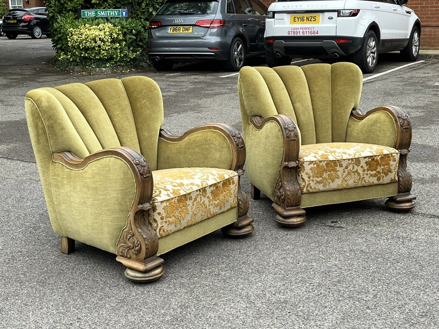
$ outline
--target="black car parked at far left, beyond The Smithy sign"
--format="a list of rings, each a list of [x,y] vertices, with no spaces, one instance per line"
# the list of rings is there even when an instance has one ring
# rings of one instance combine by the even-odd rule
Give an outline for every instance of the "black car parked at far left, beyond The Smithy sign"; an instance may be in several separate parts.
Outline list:
[[[45,7],[11,9],[3,17],[2,31],[8,39],[26,34],[32,39],[40,39],[49,34],[49,20]]]

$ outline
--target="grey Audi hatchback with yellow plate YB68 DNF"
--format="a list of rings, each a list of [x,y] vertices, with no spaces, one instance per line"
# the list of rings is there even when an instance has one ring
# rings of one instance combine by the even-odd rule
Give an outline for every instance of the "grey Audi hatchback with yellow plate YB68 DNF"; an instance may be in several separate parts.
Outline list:
[[[148,55],[158,71],[197,60],[239,71],[245,58],[265,54],[266,14],[259,0],[168,0],[149,23]]]

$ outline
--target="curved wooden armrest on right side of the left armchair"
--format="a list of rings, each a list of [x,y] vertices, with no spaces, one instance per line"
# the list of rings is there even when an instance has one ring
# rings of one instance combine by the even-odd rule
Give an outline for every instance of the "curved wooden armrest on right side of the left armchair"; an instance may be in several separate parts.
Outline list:
[[[159,137],[165,139],[169,142],[180,142],[185,139],[187,136],[195,132],[201,132],[203,130],[217,130],[221,132],[229,141],[230,147],[232,149],[232,161],[230,165],[230,170],[234,170],[240,175],[244,172],[243,167],[245,163],[245,144],[244,139],[242,139],[241,133],[238,132],[230,125],[226,125],[223,123],[212,123],[209,125],[202,125],[193,129],[188,130],[183,135],[178,136],[174,135],[167,129],[160,129]],[[193,145],[194,149],[197,148],[197,145]]]

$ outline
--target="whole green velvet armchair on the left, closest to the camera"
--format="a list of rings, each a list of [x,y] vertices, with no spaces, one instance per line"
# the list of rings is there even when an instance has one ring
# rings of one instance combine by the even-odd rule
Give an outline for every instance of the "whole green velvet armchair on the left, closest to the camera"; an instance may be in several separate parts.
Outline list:
[[[107,250],[138,282],[164,273],[158,257],[222,228],[253,231],[240,189],[245,145],[229,125],[182,136],[161,129],[162,94],[143,76],[29,91],[26,118],[51,225]]]

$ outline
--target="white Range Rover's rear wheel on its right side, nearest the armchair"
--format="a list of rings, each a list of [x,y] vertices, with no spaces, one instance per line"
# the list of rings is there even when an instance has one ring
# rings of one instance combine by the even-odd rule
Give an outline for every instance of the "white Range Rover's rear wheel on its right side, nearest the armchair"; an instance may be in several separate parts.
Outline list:
[[[353,54],[353,62],[363,73],[374,72],[378,63],[378,38],[374,31],[368,31],[361,48]]]

